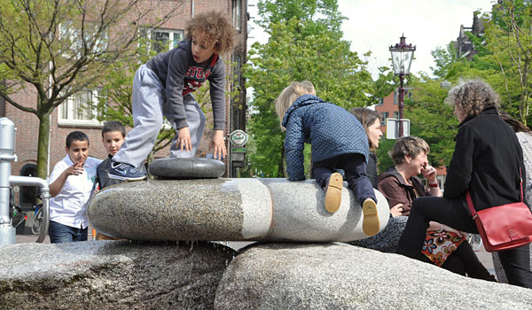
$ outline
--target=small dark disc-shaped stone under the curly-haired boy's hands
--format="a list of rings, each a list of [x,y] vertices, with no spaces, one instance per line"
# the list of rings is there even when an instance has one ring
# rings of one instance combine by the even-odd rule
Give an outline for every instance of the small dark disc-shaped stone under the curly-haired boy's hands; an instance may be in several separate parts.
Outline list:
[[[155,159],[148,167],[158,179],[208,179],[225,173],[225,165],[216,159]]]

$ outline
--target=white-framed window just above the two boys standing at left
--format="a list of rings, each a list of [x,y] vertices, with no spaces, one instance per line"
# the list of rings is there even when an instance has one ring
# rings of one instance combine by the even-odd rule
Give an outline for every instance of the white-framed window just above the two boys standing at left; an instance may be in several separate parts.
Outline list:
[[[59,105],[59,125],[99,125],[97,111],[93,107],[97,103],[98,89],[78,91]]]

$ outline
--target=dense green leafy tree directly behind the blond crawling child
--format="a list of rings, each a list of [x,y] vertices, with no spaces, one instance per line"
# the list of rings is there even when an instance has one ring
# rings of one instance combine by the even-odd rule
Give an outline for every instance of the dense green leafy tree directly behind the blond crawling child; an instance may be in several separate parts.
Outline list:
[[[341,40],[344,19],[336,1],[261,1],[259,24],[268,43],[254,43],[245,67],[253,87],[247,128],[254,141],[249,170],[265,177],[284,177],[284,133],[274,102],[292,81],[311,81],[317,96],[349,109],[375,103],[371,74],[349,43]],[[309,148],[305,149],[309,166]]]

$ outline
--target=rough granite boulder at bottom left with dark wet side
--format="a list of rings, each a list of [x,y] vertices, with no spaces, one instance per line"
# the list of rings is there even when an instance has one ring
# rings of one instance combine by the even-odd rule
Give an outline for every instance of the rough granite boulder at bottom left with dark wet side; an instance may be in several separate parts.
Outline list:
[[[212,309],[221,244],[87,241],[0,251],[0,309]]]

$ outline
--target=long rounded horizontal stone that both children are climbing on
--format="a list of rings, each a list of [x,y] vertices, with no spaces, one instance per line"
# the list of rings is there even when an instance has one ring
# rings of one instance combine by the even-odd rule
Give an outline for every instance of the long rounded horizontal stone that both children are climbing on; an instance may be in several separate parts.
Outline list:
[[[378,191],[380,229],[389,207]],[[362,232],[362,208],[344,187],[336,213],[314,180],[150,180],[114,185],[89,203],[91,224],[131,240],[351,241]]]

